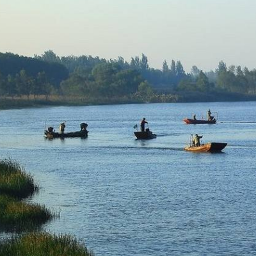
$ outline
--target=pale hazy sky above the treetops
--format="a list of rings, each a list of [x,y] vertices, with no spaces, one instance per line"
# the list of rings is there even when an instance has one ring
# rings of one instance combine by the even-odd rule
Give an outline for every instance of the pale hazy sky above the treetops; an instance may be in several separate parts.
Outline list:
[[[256,0],[0,0],[0,52],[256,68]]]

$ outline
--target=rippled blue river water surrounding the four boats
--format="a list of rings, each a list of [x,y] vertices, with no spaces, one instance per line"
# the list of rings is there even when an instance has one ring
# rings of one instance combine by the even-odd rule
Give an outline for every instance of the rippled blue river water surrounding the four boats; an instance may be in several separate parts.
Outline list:
[[[182,123],[209,108],[218,124]],[[76,235],[97,256],[256,255],[255,109],[216,102],[4,110],[0,157],[35,175],[42,188],[34,201],[61,211],[44,229]],[[155,140],[134,138],[144,116]],[[56,129],[67,120],[67,132],[87,122],[89,136],[45,140],[45,120]],[[191,133],[228,146],[184,152]]]

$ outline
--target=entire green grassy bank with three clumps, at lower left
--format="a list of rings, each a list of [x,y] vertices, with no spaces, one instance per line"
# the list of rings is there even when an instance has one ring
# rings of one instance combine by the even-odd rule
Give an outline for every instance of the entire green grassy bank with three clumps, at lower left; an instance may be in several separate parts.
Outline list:
[[[38,190],[33,176],[14,161],[0,161],[0,234],[28,232],[56,216],[44,205],[28,204],[24,198]],[[32,232],[0,241],[0,256],[92,256],[86,246],[72,236]]]

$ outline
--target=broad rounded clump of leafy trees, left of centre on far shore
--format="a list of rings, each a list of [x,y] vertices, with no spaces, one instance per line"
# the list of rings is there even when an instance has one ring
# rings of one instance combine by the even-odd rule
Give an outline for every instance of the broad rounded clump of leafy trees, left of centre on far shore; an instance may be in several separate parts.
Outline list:
[[[79,70],[61,83],[65,95],[90,95],[91,97],[115,97],[135,93],[142,79],[138,71],[122,70],[118,63],[102,63],[86,76]]]

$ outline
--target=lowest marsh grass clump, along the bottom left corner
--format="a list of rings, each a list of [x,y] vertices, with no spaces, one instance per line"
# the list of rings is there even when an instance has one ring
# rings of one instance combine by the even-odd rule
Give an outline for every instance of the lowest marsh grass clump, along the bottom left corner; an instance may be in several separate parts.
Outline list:
[[[31,233],[0,244],[0,256],[93,256],[72,236]]]

